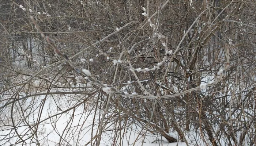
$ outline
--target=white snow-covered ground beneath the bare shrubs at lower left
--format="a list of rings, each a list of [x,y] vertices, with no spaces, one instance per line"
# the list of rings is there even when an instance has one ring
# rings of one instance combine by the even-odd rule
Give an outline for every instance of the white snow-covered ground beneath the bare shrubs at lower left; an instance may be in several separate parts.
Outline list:
[[[15,110],[19,110],[19,108],[14,106],[13,117],[17,118],[14,119],[14,123],[16,127],[19,126],[16,128],[16,132],[20,135],[24,135],[21,136],[22,139],[29,138],[25,140],[27,145],[36,146],[37,141],[40,143],[40,146],[96,145],[94,137],[98,134],[97,130],[101,115],[99,115],[98,111],[95,111],[95,107],[92,107],[90,103],[81,104],[81,102],[76,99],[72,100],[67,95],[61,97],[59,95],[52,95],[47,96],[46,99],[45,97],[45,95],[42,95],[35,97],[33,100],[27,99],[23,102],[20,101],[20,103],[26,103],[22,105],[24,115],[20,115],[20,113],[22,113],[20,111],[15,112]],[[44,99],[45,103],[43,105],[42,103]],[[32,102],[34,102],[34,106],[29,104]],[[58,105],[58,107],[56,105]],[[73,107],[75,107],[75,109]],[[10,110],[10,108],[8,108],[8,110]],[[7,110],[7,108],[5,108],[5,110]],[[112,112],[113,110],[109,109],[108,115],[111,115]],[[38,121],[39,115],[41,115],[40,122],[38,125],[35,125],[38,123],[36,121]],[[26,118],[24,118],[24,116]],[[6,115],[6,118],[7,117],[8,115]],[[2,117],[2,119],[4,119],[4,117]],[[11,120],[8,121],[10,122]],[[3,126],[3,123],[5,126]],[[121,123],[123,124],[123,122]],[[7,126],[8,124],[9,126]],[[35,128],[36,126],[38,126],[37,136],[31,134],[37,129]],[[112,131],[117,128],[116,126],[117,125],[111,121],[109,124],[105,124],[103,126],[104,128],[100,146],[112,146],[114,143],[116,143],[116,145],[120,143],[120,137],[117,136],[120,134],[120,130],[116,130],[116,132]],[[9,146],[20,141],[16,132],[12,129],[12,123],[8,123],[7,120],[5,122],[1,122],[0,145]],[[130,125],[128,128],[123,128],[123,130],[121,130],[121,145],[185,146],[185,143],[168,143],[167,140],[161,136],[157,138],[155,135],[149,134],[149,132],[144,136],[144,133],[145,130],[142,130],[135,124]],[[173,136],[177,137],[177,135]],[[117,139],[114,139],[114,137]],[[8,139],[10,139],[9,142],[7,142]],[[31,141],[31,139],[33,140]],[[91,139],[93,139],[93,142],[90,142]],[[159,139],[159,141],[155,141],[157,139]],[[24,143],[17,143],[16,146],[22,144],[25,145]]]

